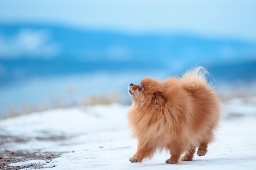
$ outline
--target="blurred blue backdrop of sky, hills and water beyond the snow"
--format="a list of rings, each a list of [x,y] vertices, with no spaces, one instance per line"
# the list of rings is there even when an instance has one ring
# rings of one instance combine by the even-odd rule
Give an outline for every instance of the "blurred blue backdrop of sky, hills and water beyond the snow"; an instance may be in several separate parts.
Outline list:
[[[0,116],[130,104],[130,83],[202,65],[256,94],[255,0],[0,0]]]

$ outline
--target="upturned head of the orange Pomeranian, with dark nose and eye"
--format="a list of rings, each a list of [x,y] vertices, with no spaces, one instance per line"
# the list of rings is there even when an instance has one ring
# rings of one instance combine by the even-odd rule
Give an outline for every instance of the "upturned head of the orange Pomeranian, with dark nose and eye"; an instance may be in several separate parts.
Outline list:
[[[144,78],[140,85],[130,84],[128,93],[135,104],[164,105],[165,98],[161,91],[160,82],[153,78]]]

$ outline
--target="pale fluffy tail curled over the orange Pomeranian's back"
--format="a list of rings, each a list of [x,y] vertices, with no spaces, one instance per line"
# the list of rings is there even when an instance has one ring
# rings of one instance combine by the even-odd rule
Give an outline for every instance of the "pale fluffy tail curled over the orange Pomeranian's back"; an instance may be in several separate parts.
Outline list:
[[[202,66],[192,68],[182,75],[180,83],[183,88],[188,91],[195,91],[202,86],[210,88],[207,82],[207,76],[210,78],[211,74]]]

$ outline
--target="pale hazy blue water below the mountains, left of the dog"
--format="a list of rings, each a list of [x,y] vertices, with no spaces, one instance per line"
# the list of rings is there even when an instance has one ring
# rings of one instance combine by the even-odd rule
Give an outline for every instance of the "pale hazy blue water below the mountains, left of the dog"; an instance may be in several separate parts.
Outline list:
[[[88,73],[65,76],[31,78],[0,88],[0,113],[9,107],[52,105],[56,98],[63,103],[80,104],[88,96],[117,94],[120,102],[130,102],[127,89],[130,83],[139,84],[145,76],[163,80],[170,75],[163,72]]]

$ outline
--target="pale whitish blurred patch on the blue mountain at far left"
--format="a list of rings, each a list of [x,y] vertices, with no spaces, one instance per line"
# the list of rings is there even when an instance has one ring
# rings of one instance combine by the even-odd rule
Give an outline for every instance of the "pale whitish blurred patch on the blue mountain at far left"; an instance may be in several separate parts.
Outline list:
[[[59,52],[58,45],[50,40],[47,30],[24,29],[11,37],[0,34],[0,58],[2,59],[52,58]]]

